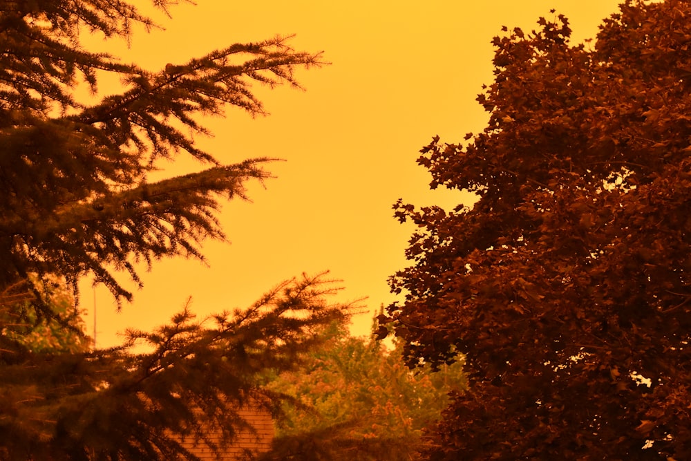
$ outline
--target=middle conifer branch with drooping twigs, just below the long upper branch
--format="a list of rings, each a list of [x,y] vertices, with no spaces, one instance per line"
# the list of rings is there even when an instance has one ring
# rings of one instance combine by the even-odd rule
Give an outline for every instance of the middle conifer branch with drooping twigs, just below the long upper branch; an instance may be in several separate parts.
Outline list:
[[[0,234],[28,245],[15,248],[15,258],[19,258],[15,264],[39,273],[50,270],[50,265],[63,273],[92,271],[117,299],[130,299],[131,294],[115,281],[106,265],[114,263],[138,281],[131,265],[133,257],[149,264],[153,258],[173,254],[203,261],[198,242],[225,238],[214,217],[218,202],[213,195],[247,199],[244,182],[268,178],[259,164],[269,160],[213,167],[65,204],[43,220],[19,216],[1,223]],[[37,251],[29,251],[32,246]]]

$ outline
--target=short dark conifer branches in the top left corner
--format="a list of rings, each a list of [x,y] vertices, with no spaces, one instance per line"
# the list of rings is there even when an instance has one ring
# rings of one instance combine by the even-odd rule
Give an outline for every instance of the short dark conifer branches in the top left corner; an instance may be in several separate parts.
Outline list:
[[[77,71],[93,91],[95,70],[131,73],[131,66],[79,45],[77,29],[85,20],[92,30],[100,27],[106,35],[128,35],[120,25],[132,21],[151,25],[150,19],[120,3],[46,0],[0,6],[0,100],[8,103],[3,109],[50,111],[55,109],[51,102],[78,107],[73,99]]]

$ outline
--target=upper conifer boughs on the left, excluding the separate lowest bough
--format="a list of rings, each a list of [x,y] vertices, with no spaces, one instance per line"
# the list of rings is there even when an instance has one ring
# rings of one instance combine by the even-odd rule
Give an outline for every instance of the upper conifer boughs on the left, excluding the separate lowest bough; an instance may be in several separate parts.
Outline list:
[[[86,32],[127,39],[135,23],[152,25],[125,1],[0,2],[0,285],[32,272],[70,281],[91,272],[118,300],[130,299],[111,267],[138,281],[133,261],[201,258],[200,239],[223,238],[217,197],[242,197],[245,180],[267,177],[268,159],[221,164],[196,147],[193,135],[209,134],[196,115],[228,105],[263,113],[252,82],[296,86],[296,67],[320,64],[285,37],[160,70],[80,42]],[[79,83],[97,92],[102,73],[119,76],[122,93],[77,101]],[[180,153],[208,168],[147,181],[158,160]]]

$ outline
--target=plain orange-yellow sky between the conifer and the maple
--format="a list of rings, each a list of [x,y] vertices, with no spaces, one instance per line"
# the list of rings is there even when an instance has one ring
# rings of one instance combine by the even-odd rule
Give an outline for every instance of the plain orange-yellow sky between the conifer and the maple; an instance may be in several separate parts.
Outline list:
[[[105,288],[82,283],[89,334],[94,299],[97,346],[108,347],[122,342],[117,332],[127,327],[149,330],[165,323],[188,297],[193,311],[205,317],[249,305],[302,272],[330,270],[343,281],[341,301],[368,297],[372,310],[394,301],[386,280],[406,265],[413,227],[392,218],[391,206],[399,197],[447,209],[468,201],[457,191],[429,191],[415,159],[433,135],[460,142],[465,133],[483,129],[486,115],[475,96],[491,83],[491,38],[503,25],[536,28],[538,17],[552,17],[549,10],[558,8],[578,42],[594,37],[618,3],[198,0],[197,6],[174,7],[172,20],[155,16],[166,30],[137,30],[129,48],[119,44],[110,48],[113,53],[158,70],[236,42],[296,34],[294,48],[323,50],[332,64],[300,71],[305,92],[258,88],[268,117],[252,119],[229,108],[227,117],[209,120],[215,137],[200,145],[219,160],[287,161],[269,165],[277,178],[265,189],[252,185],[253,203],[225,205],[221,221],[231,243],[205,243],[210,267],[160,261],[141,274],[143,290],[119,313]],[[180,158],[166,173],[191,169],[198,165]],[[364,314],[352,330],[365,335],[370,324],[371,314]]]

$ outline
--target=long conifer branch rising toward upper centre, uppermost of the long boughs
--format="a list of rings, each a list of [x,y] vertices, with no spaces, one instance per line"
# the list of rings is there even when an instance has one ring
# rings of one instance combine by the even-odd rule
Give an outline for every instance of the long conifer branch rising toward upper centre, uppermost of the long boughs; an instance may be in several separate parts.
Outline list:
[[[152,158],[168,157],[172,148],[214,161],[173,125],[180,123],[193,132],[209,134],[193,114],[223,115],[228,104],[252,115],[265,114],[261,101],[250,89],[252,80],[272,87],[282,83],[299,87],[294,78],[296,66],[325,64],[321,54],[298,53],[287,46],[287,39],[290,37],[235,44],[187,64],[169,64],[159,73],[133,67],[127,79],[133,88],[107,97],[68,120],[97,126],[105,133],[117,133],[119,144],[132,142],[142,153],[151,145]],[[251,59],[234,62],[235,58],[247,55]]]

